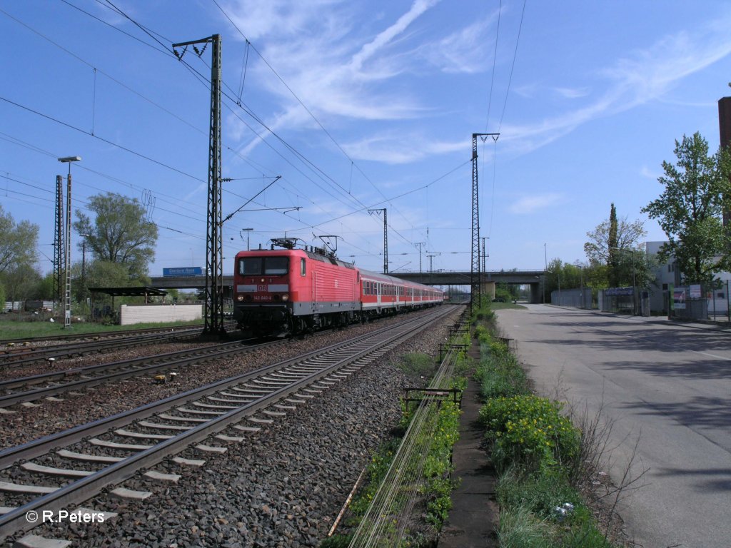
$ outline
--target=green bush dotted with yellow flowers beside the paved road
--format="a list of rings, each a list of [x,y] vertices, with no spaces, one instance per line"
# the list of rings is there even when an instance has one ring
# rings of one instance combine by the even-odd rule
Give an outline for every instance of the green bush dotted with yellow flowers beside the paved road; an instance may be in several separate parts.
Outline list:
[[[496,468],[520,464],[534,470],[570,463],[579,452],[580,435],[560,411],[561,403],[533,395],[493,398],[482,406],[480,421],[492,442]]]

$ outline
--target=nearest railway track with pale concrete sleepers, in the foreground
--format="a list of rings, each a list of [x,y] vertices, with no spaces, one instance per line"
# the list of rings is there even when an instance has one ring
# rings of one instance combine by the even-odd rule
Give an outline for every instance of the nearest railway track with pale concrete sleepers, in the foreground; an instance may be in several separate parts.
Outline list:
[[[6,505],[1,508],[0,540],[37,525],[26,519],[29,513],[68,509],[193,444],[202,455],[225,451],[227,444],[244,441],[246,433],[335,387],[450,311],[440,307],[297,359],[0,452],[0,491]],[[146,475],[156,477],[154,471]]]

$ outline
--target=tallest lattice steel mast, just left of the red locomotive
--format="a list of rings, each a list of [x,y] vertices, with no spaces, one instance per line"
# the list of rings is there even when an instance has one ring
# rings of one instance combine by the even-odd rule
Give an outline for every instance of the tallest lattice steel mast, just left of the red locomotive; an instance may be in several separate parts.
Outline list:
[[[208,136],[208,218],[205,237],[205,323],[203,335],[225,335],[223,323],[223,231],[221,222],[221,35],[173,44],[175,47],[193,46],[201,56],[197,44],[212,45],[211,51],[211,124]],[[186,47],[187,49],[187,47]],[[183,53],[173,50],[178,59]]]

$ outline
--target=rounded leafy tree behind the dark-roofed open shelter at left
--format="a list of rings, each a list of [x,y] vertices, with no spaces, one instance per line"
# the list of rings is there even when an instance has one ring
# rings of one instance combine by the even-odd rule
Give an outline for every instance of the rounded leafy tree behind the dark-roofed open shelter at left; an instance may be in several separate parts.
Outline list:
[[[81,211],[74,229],[86,235],[86,245],[95,259],[124,265],[129,278],[140,278],[148,273],[154,258],[157,227],[145,220],[145,208],[137,199],[118,194],[97,194],[89,199],[88,209],[95,213],[91,220]]]

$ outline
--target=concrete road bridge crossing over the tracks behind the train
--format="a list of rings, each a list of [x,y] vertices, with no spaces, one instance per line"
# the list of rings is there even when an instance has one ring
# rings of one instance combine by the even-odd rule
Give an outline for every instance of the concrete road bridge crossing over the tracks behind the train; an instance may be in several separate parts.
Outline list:
[[[469,286],[471,273],[461,271],[440,271],[425,273],[390,273],[395,278],[424,283],[428,286]],[[485,294],[494,294],[496,283],[527,285],[531,288],[531,302],[541,302],[543,270],[488,270],[480,273],[480,283]],[[224,294],[231,295],[233,276],[223,277]],[[203,289],[205,276],[152,276],[150,286],[156,289]]]

